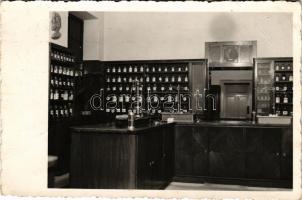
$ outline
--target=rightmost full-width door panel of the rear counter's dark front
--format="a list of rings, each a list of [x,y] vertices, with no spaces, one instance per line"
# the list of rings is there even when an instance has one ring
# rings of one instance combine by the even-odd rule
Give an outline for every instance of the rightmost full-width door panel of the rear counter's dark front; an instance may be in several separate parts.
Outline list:
[[[247,128],[247,178],[280,178],[282,129]]]

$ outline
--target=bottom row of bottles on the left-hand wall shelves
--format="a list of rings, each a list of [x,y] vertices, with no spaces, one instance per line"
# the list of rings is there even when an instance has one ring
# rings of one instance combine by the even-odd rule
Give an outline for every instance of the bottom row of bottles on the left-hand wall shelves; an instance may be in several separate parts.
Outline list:
[[[59,120],[63,118],[73,117],[72,104],[68,105],[54,105],[49,108],[49,115],[52,120]]]

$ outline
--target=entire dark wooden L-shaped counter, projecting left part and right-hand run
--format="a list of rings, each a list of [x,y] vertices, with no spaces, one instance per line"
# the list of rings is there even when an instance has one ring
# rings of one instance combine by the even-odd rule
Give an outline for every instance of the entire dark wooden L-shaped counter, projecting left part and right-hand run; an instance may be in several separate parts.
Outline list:
[[[72,128],[71,187],[161,189],[173,179],[292,187],[292,127],[244,121]]]

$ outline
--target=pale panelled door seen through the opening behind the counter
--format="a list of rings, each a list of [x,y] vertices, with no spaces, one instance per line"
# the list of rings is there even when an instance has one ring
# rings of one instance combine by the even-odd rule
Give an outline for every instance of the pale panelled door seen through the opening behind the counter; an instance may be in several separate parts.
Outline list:
[[[249,114],[248,95],[227,95],[225,104],[226,118],[247,118]]]

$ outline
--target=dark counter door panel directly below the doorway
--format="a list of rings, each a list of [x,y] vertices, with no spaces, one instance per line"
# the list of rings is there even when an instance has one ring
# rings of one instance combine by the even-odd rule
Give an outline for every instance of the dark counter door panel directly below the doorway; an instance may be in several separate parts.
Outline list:
[[[213,177],[244,177],[244,132],[238,127],[209,131],[209,173]]]

